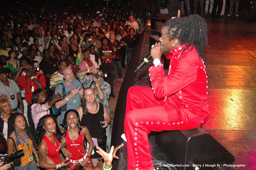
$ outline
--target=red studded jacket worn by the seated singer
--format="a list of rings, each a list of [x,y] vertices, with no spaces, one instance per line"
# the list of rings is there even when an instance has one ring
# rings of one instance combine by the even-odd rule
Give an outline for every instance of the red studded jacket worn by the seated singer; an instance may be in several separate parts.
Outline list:
[[[204,119],[208,115],[207,75],[203,60],[198,57],[196,48],[184,49],[184,45],[171,50],[166,55],[170,59],[169,74],[165,77],[163,65],[149,67],[154,94],[158,99],[164,99],[166,106],[178,106],[180,112],[189,119],[196,116]]]

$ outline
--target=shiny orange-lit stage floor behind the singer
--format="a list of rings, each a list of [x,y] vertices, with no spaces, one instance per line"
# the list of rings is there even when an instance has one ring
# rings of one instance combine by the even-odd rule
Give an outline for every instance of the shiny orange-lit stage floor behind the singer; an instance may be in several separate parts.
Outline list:
[[[200,128],[236,157],[234,164],[255,169],[256,24],[239,18],[206,18],[205,50],[209,115]]]

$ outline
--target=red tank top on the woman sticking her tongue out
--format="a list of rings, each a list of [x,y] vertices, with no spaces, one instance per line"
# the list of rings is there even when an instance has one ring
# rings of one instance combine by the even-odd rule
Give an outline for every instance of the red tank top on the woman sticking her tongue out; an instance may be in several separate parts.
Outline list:
[[[71,157],[69,159],[71,160],[79,160],[84,155],[85,152],[83,150],[84,148],[84,138],[85,135],[80,132],[80,135],[78,135],[78,138],[75,141],[72,141],[69,137],[69,129],[67,129],[66,132],[66,147],[69,150]]]

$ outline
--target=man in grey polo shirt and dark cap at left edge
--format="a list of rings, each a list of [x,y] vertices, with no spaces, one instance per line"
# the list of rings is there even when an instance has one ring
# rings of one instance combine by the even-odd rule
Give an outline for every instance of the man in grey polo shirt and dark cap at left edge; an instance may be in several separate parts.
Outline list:
[[[20,89],[18,85],[8,78],[7,68],[0,68],[0,94],[6,94],[10,98],[11,111],[18,113],[24,113],[24,104],[20,95]],[[18,108],[20,103],[20,108]]]

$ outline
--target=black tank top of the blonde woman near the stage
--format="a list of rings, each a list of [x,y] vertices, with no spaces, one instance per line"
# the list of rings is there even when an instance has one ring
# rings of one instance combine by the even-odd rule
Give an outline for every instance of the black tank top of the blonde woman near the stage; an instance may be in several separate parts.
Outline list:
[[[91,137],[98,138],[105,133],[105,128],[100,128],[99,121],[104,121],[104,107],[100,104],[100,108],[97,113],[83,114],[81,119],[81,124],[89,129]]]

